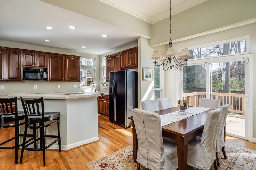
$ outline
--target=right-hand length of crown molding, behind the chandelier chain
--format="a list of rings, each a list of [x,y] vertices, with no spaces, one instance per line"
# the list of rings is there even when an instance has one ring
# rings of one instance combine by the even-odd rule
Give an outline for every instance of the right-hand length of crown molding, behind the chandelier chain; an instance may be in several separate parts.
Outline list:
[[[186,2],[183,2],[179,5],[172,7],[172,15],[175,15],[179,12],[185,11],[185,10],[192,8],[193,6],[196,6],[198,4],[201,4],[205,1],[207,1],[207,0],[188,0]],[[152,24],[159,22],[165,18],[169,18],[169,17],[170,17],[170,10],[166,10],[166,11],[152,17]]]

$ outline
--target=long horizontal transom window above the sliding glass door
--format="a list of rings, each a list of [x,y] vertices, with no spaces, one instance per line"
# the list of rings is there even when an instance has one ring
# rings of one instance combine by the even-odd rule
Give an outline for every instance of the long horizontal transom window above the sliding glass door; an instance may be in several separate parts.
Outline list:
[[[190,49],[189,52],[192,54],[188,59],[213,57],[220,55],[230,55],[246,53],[248,47],[248,40],[239,40],[228,43],[221,43],[212,46]]]

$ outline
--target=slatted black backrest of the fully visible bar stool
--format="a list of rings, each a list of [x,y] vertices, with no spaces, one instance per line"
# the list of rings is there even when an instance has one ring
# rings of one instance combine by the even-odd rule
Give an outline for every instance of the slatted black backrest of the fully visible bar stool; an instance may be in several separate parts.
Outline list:
[[[28,116],[40,116],[38,119],[44,117],[44,98],[27,100],[20,97],[20,99],[25,112],[25,119],[28,119]],[[41,104],[41,112],[39,104]]]

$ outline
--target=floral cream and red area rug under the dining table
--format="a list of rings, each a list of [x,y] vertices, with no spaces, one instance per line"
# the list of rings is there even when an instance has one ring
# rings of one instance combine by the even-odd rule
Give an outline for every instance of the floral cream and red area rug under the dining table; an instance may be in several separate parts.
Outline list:
[[[223,153],[219,152],[221,170],[256,170],[256,151],[239,147],[233,144],[226,144],[228,159],[224,159]],[[137,164],[133,162],[132,146],[112,153],[101,159],[86,164],[90,170],[136,170]],[[141,167],[146,170],[147,168]],[[188,170],[198,170],[188,166]],[[210,170],[214,170],[213,164]]]

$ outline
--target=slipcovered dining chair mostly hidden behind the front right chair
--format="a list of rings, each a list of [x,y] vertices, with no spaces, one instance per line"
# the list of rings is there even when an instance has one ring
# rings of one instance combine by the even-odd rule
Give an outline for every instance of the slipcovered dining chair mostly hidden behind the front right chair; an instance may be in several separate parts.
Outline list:
[[[220,106],[220,108],[223,109],[223,113],[221,115],[220,127],[218,129],[217,138],[216,138],[216,150],[217,150],[216,156],[217,156],[218,166],[220,166],[219,159],[218,159],[218,152],[220,152],[220,150],[222,150],[224,158],[227,159],[227,155],[226,155],[226,152],[225,152],[224,128],[225,128],[225,125],[226,125],[226,119],[227,119],[227,116],[228,116],[229,107],[230,107],[229,104],[226,104],[224,106]]]

